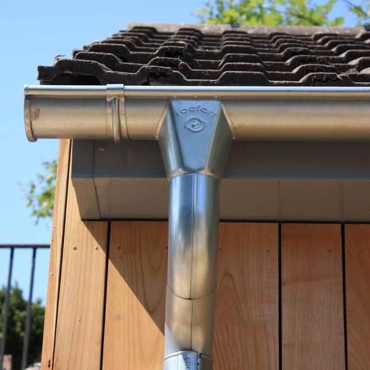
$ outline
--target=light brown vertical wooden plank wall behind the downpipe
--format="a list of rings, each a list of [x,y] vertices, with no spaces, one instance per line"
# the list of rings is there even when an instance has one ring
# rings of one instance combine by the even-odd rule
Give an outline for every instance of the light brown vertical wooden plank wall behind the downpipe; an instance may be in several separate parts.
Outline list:
[[[167,223],[81,222],[69,153],[62,141],[42,370],[159,370]],[[370,368],[369,240],[370,225],[222,222],[215,370]]]

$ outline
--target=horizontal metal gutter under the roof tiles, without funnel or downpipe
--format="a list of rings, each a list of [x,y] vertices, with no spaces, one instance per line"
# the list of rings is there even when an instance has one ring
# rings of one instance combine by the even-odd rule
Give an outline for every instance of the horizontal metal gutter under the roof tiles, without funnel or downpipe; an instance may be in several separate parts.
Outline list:
[[[179,99],[194,100],[187,108],[205,118],[213,112],[199,100],[220,101],[237,140],[370,139],[370,87],[26,86],[26,133],[30,141],[152,140]]]

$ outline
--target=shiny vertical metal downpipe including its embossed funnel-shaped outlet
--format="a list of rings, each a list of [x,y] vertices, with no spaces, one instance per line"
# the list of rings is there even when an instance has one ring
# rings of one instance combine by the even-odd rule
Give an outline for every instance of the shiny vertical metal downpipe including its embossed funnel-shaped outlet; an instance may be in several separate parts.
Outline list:
[[[171,101],[158,134],[170,183],[164,370],[212,370],[219,185],[232,133],[218,101]]]

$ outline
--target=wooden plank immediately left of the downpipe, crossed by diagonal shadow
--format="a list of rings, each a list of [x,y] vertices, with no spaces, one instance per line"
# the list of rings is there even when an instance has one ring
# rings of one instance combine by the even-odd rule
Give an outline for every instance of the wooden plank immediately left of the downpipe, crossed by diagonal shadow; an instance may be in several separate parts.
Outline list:
[[[162,370],[167,223],[113,222],[103,370]]]

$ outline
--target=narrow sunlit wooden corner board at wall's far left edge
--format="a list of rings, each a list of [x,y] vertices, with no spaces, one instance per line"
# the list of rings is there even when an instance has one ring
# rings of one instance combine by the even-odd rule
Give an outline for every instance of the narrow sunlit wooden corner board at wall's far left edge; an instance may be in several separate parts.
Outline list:
[[[69,173],[70,140],[60,140],[53,224],[50,242],[49,277],[45,307],[44,337],[42,342],[41,370],[53,366],[54,340],[58,307],[60,266],[65,223],[65,205]]]

